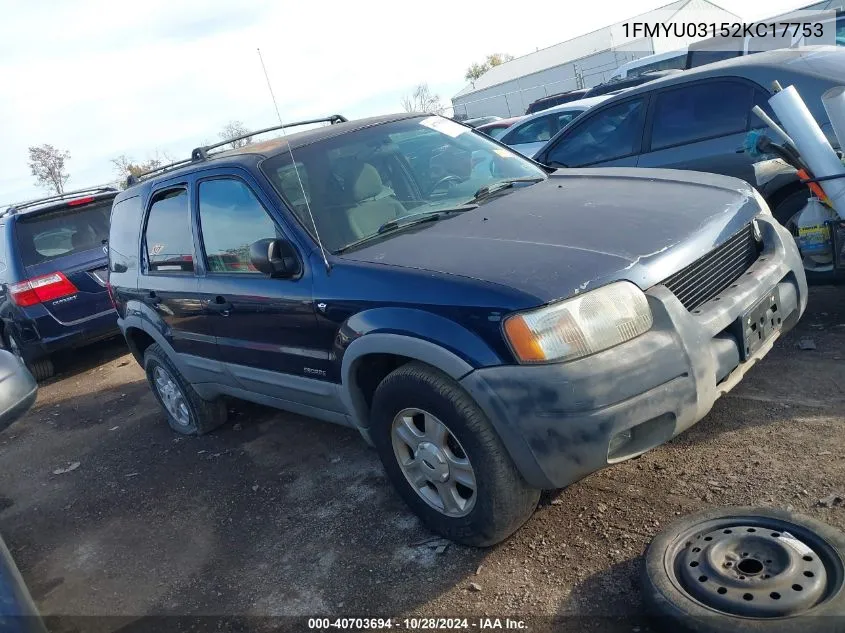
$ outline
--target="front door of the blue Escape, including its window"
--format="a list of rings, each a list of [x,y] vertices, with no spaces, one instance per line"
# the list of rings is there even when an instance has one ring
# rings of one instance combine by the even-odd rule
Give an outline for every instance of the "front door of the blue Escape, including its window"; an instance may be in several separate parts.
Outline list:
[[[306,258],[300,255],[303,272],[295,279],[271,278],[251,264],[253,242],[289,239],[251,181],[206,178],[197,200],[206,268],[200,290],[227,370],[249,392],[327,405],[328,352],[316,344]]]

